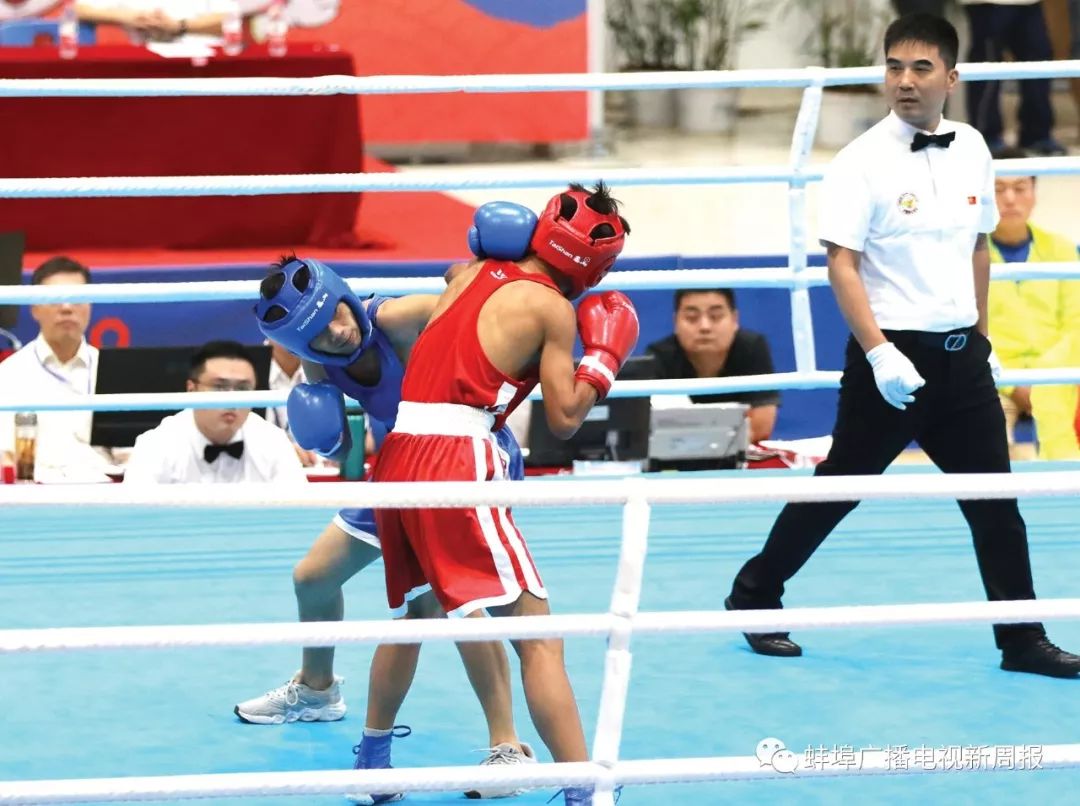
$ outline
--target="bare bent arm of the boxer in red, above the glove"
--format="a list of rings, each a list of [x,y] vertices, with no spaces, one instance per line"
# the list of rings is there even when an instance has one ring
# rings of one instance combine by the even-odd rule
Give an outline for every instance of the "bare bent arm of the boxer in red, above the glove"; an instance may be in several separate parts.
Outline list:
[[[540,348],[540,385],[548,427],[559,440],[568,440],[581,428],[596,402],[596,389],[575,377],[573,341],[578,333],[573,306],[552,298],[540,306],[544,326]]]

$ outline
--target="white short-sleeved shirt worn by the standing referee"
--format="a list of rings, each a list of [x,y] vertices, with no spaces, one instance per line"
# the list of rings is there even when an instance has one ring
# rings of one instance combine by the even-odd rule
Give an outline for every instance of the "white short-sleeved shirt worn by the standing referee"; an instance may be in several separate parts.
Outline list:
[[[943,333],[978,321],[971,254],[998,223],[994,162],[983,136],[912,151],[919,130],[890,113],[848,144],[825,172],[819,236],[862,253],[860,276],[878,327]]]

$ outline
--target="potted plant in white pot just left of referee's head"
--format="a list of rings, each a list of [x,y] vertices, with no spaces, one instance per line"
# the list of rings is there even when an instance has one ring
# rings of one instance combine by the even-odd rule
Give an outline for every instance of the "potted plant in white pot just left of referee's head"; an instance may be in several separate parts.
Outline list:
[[[888,6],[879,0],[788,0],[810,17],[805,52],[823,67],[881,64]],[[828,86],[822,95],[818,145],[840,148],[888,111],[875,84]]]

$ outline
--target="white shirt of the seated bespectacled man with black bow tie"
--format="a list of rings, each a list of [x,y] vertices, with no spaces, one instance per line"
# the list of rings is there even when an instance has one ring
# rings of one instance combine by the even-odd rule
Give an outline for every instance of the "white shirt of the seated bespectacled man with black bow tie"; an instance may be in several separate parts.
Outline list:
[[[244,453],[239,459],[222,453],[213,462],[207,462],[203,451],[211,444],[210,440],[195,427],[194,412],[186,408],[165,417],[157,428],[139,434],[124,470],[124,483],[302,484],[308,481],[293,443],[276,426],[252,413],[232,441],[241,440]]]

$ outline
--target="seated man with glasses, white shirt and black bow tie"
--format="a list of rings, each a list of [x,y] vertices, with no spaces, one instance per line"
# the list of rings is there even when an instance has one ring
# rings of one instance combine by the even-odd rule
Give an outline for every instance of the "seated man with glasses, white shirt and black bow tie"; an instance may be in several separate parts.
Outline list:
[[[189,392],[255,389],[255,362],[243,345],[211,341],[191,358]],[[186,408],[135,440],[124,483],[305,483],[288,436],[249,408]]]

